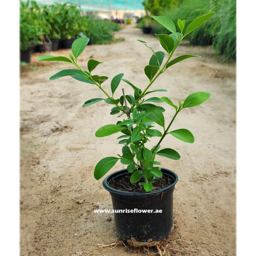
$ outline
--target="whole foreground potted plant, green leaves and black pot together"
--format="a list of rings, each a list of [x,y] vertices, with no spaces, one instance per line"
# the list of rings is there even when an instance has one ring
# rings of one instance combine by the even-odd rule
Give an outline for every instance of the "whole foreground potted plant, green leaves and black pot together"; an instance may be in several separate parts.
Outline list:
[[[209,19],[214,12],[203,15],[192,21],[185,28],[185,20],[177,20],[180,32],[176,32],[175,24],[168,17],[152,16],[154,20],[168,29],[170,35],[157,35],[161,46],[165,52],[154,50],[145,41],[138,40],[145,44],[152,56],[149,64],[145,67],[145,75],[148,85],[144,90],[123,78],[124,74],[118,74],[111,81],[111,93],[108,93],[102,84],[108,79],[107,76],[96,75],[95,68],[101,64],[100,61],[90,59],[87,63],[87,71],[80,67],[77,59],[88,44],[89,38],[79,38],[72,45],[73,55],[70,58],[54,57],[44,55],[38,61],[66,61],[73,64],[76,69],[61,70],[50,80],[63,76],[71,76],[84,83],[91,84],[99,88],[107,97],[89,99],[84,102],[83,107],[87,107],[99,101],[105,101],[113,106],[111,115],[118,115],[116,124],[108,124],[96,131],[96,137],[105,137],[111,134],[121,133],[117,139],[122,144],[122,153],[116,157],[105,157],[100,160],[94,169],[96,180],[102,178],[116,163],[121,161],[127,168],[114,172],[103,180],[103,186],[112,197],[113,209],[122,212],[115,212],[115,224],[117,234],[128,240],[130,243],[136,241],[149,242],[160,241],[171,233],[173,226],[173,191],[177,183],[177,175],[169,169],[160,167],[161,164],[155,158],[158,156],[167,157],[172,160],[180,159],[180,154],[172,148],[160,148],[166,136],[174,136],[187,143],[194,142],[192,133],[184,128],[172,131],[170,128],[175,118],[181,111],[192,108],[209,99],[210,94],[206,92],[192,93],[182,102],[175,104],[166,96],[161,98],[148,97],[154,92],[164,92],[166,90],[155,89],[151,86],[158,76],[169,70],[170,67],[187,58],[200,57],[198,55],[181,55],[172,58],[173,53],[180,44],[180,41],[190,32]],[[167,52],[167,54],[166,54]],[[166,55],[166,59],[165,58]],[[124,81],[134,90],[134,95],[122,95],[116,97],[115,91],[120,82]],[[155,105],[155,102],[172,106],[175,111],[174,116],[166,122],[162,106]],[[154,128],[159,125],[163,131]],[[148,146],[151,137],[159,137],[159,141],[153,147]],[[131,214],[132,213],[132,214]],[[158,214],[157,214],[158,213]]]

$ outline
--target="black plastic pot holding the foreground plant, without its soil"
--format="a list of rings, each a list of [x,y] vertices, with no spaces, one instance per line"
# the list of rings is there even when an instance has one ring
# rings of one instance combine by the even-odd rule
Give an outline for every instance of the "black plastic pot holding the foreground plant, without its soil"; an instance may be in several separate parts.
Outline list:
[[[173,226],[173,191],[178,181],[171,170],[162,168],[162,172],[172,180],[172,185],[151,192],[124,192],[113,189],[108,184],[112,179],[128,174],[127,169],[112,173],[103,181],[103,187],[111,194],[113,209],[134,210],[134,213],[114,212],[117,234],[125,240],[134,238],[138,242],[160,241],[166,238]],[[140,213],[140,210],[153,210]],[[162,210],[162,213],[155,213]]]

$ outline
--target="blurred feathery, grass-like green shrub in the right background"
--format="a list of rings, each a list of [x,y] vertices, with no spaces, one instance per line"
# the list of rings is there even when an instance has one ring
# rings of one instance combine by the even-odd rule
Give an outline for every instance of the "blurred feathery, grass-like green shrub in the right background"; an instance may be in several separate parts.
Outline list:
[[[194,17],[205,12],[214,11],[210,22],[204,23],[189,35],[189,42],[193,45],[212,44],[217,54],[225,59],[236,58],[236,2],[233,0],[184,0],[180,5],[166,10],[163,15],[177,20],[186,18],[188,25]],[[178,28],[177,24],[176,28]],[[153,32],[166,33],[166,29],[154,23]]]

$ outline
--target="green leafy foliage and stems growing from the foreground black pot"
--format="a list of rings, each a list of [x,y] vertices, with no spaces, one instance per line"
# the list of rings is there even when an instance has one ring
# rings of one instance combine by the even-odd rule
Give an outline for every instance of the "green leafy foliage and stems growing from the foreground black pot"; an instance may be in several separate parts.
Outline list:
[[[105,96],[107,96],[107,98],[87,100],[84,102],[83,107],[92,105],[99,101],[105,101],[107,104],[113,105],[110,112],[111,115],[118,115],[118,117],[122,116],[122,119],[116,122],[116,124],[104,125],[95,133],[96,137],[105,137],[117,132],[121,132],[123,134],[117,138],[119,140],[119,144],[123,144],[122,154],[117,154],[117,157],[105,157],[97,163],[94,169],[94,177],[97,180],[103,177],[116,164],[116,162],[120,160],[122,164],[127,165],[127,170],[131,173],[131,183],[139,182],[146,192],[152,191],[152,184],[154,184],[155,179],[163,176],[161,168],[154,167],[154,165],[160,165],[160,162],[155,160],[155,157],[162,156],[173,160],[180,159],[180,154],[174,149],[160,149],[163,139],[166,136],[172,135],[187,143],[194,142],[194,136],[189,130],[181,128],[170,131],[170,127],[180,111],[200,105],[209,99],[210,94],[206,92],[192,93],[187,96],[183,102],[179,101],[178,104],[173,103],[171,99],[165,96],[158,98],[149,97],[148,95],[154,92],[166,91],[163,89],[149,90],[149,88],[158,76],[169,69],[169,67],[185,60],[186,58],[200,57],[198,55],[181,55],[172,59],[172,55],[179,46],[180,41],[182,41],[186,35],[189,35],[189,33],[204,23],[212,15],[213,12],[210,12],[207,15],[203,15],[195,19],[186,26],[186,29],[186,21],[178,19],[177,24],[180,32],[176,31],[175,24],[168,17],[152,16],[154,20],[168,30],[168,34],[157,35],[161,46],[167,54],[162,51],[154,52],[154,50],[145,41],[138,40],[152,52],[149,64],[144,69],[148,80],[148,85],[144,90],[132,84],[131,81],[124,79],[124,74],[120,73],[111,80],[111,93],[108,93],[102,87],[102,84],[108,79],[108,77],[94,74],[95,68],[102,62],[90,59],[87,63],[88,71],[80,67],[77,62],[79,55],[83,52],[89,42],[89,38],[86,37],[82,37],[74,41],[72,45],[73,55],[70,54],[70,58],[62,56],[54,57],[52,55],[43,55],[38,58],[38,61],[66,61],[76,66],[76,69],[61,70],[51,76],[50,80],[58,79],[63,76],[71,76],[79,81],[93,84],[98,87]],[[170,32],[171,34],[169,35]],[[134,95],[125,95],[125,91],[122,89],[122,95],[120,97],[114,96],[121,81],[132,87]],[[175,114],[169,122],[166,122],[163,116],[165,109],[154,105],[154,102],[168,104],[174,108]],[[159,125],[162,128],[162,131],[155,129],[155,125]],[[160,137],[160,139],[152,148],[147,148],[146,143],[149,142],[152,137]]]

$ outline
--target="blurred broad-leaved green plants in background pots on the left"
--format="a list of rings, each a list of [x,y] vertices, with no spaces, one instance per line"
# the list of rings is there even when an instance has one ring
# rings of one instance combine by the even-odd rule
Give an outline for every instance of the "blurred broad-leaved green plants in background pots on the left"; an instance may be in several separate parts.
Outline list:
[[[93,38],[93,44],[108,44],[113,42],[113,31],[119,29],[117,23],[84,16],[74,4],[20,1],[20,49],[44,43],[48,38],[70,39],[80,35]]]

